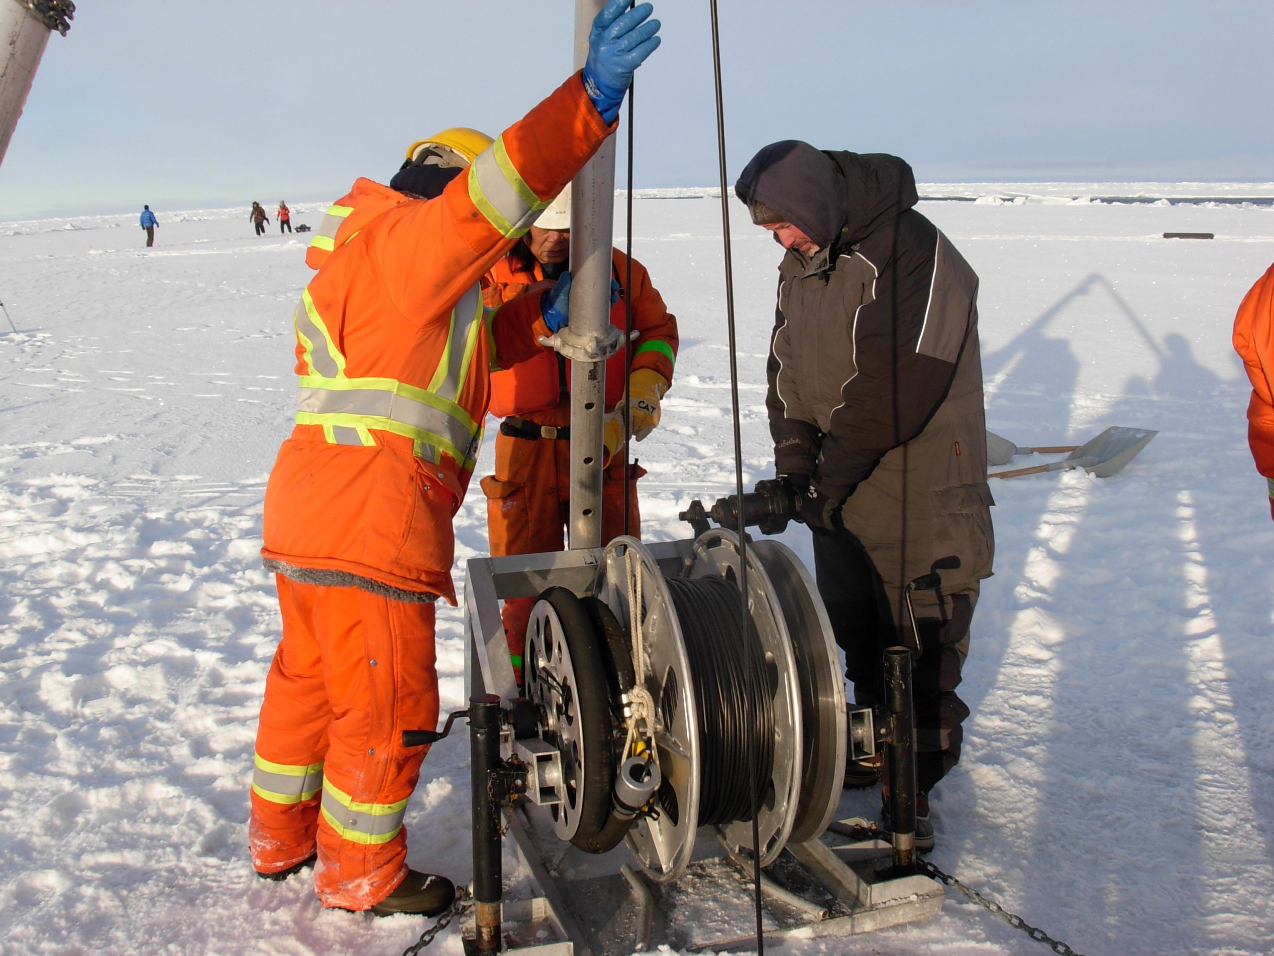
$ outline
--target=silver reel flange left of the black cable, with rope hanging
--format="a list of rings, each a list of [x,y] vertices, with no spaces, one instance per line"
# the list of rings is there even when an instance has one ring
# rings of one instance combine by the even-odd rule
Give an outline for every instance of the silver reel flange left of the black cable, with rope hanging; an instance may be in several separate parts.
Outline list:
[[[637,634],[631,632],[629,594],[634,589],[629,554],[641,576]],[[624,535],[605,547],[598,597],[631,632],[634,663],[640,656],[636,644],[642,642],[646,669],[637,674],[637,683],[655,704],[655,751],[662,783],[659,816],[641,817],[626,840],[642,871],[668,883],[691,862],[699,818],[699,724],[691,664],[664,575],[640,540]]]

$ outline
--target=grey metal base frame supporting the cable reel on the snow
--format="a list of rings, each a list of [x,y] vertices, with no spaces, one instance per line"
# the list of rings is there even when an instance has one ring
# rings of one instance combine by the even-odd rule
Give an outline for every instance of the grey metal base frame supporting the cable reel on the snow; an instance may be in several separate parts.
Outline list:
[[[693,540],[660,542],[646,552],[669,577],[696,561]],[[517,696],[499,600],[538,597],[550,586],[578,595],[605,584],[601,548],[474,558],[465,586],[466,696]],[[636,873],[629,851],[583,853],[554,832],[545,808],[520,800],[503,815],[512,837],[502,899],[503,945],[536,956],[618,956],[668,945],[674,950],[754,950],[750,867],[744,873],[711,829],[702,829],[684,874],[660,885]],[[824,832],[789,843],[762,878],[767,939],[845,937],[930,919],[945,891],[926,876],[892,872],[891,846]],[[703,895],[711,894],[711,918]],[[465,925],[471,950],[474,924]]]

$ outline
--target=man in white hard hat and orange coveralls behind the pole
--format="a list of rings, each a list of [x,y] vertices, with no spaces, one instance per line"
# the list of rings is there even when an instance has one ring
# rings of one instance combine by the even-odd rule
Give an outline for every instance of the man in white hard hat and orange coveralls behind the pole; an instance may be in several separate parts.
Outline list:
[[[508,255],[487,275],[484,297],[494,307],[553,284],[571,256],[571,187],[544,210]],[[632,266],[632,287],[628,270]],[[624,405],[632,409],[633,437],[642,441],[659,424],[660,400],[673,380],[676,362],[676,319],[664,307],[651,286],[646,266],[618,249],[612,251],[610,275],[620,298],[610,308],[610,321],[623,329],[626,306],[638,333],[632,347],[632,370],[624,375],[627,351],[606,362],[604,428],[606,467],[601,483],[601,542],[619,534],[641,537],[637,479],[646,474],[628,467],[628,528],[624,528]],[[487,496],[487,530],[492,554],[531,554],[562,551],[563,528],[569,519],[571,493],[571,381],[568,362],[541,349],[534,358],[490,376],[490,413],[502,417],[496,437],[496,473],[482,479]],[[627,382],[627,395],[624,385]],[[521,682],[526,622],[535,598],[505,602],[501,616],[505,637]]]

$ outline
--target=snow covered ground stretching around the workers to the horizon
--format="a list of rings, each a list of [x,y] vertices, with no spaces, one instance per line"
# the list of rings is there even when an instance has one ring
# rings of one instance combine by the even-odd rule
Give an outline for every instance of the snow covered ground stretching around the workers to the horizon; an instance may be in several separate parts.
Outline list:
[[[1229,326],[1274,259],[1274,209],[1066,201],[1131,195],[1089,184],[943,189],[1001,200],[921,206],[982,279],[990,427],[1019,445],[1110,424],[1159,436],[1106,481],[994,484],[973,715],[934,794],[933,859],[1089,956],[1270,952],[1274,528]],[[1028,189],[1052,201],[1003,204]],[[734,482],[720,204],[698,195],[636,203],[636,255],[683,334],[664,424],[637,446],[652,539],[684,537],[676,512]],[[294,206],[293,222],[321,213]],[[153,250],[135,214],[0,223],[19,329],[0,335],[0,953],[397,953],[419,922],[321,911],[304,880],[256,880],[245,851],[279,636],[261,493],[289,428],[304,237],[257,238],[246,209],[158,214]],[[731,215],[750,481],[768,474],[780,250],[741,205]],[[484,511],[474,488],[461,560],[485,548]],[[808,558],[804,529],[785,538]],[[446,711],[462,705],[462,654],[457,612],[440,611]],[[410,862],[460,881],[466,753],[462,734],[434,748],[406,818]],[[459,953],[459,937],[431,951]],[[785,951],[1046,950],[950,896],[926,924]]]

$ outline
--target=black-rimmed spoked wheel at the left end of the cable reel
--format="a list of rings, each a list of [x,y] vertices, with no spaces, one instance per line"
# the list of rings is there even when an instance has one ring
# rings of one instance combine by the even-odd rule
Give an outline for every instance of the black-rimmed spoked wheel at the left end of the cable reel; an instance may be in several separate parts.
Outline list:
[[[540,735],[562,755],[554,830],[589,849],[610,817],[615,760],[599,636],[580,598],[566,588],[549,588],[535,602],[525,660],[526,696],[539,710]]]

